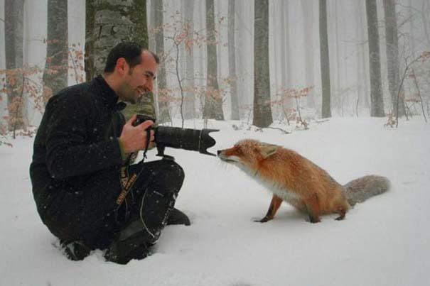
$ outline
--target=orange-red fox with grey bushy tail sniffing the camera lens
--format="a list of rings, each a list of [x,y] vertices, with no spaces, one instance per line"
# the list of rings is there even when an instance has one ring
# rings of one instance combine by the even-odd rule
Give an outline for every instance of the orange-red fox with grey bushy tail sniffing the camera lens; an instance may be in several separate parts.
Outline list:
[[[232,148],[217,150],[217,157],[231,163],[273,192],[266,216],[261,223],[274,219],[283,201],[308,214],[311,223],[320,216],[338,214],[345,219],[355,204],[387,192],[387,177],[367,175],[340,185],[326,170],[296,151],[279,145],[244,139]]]

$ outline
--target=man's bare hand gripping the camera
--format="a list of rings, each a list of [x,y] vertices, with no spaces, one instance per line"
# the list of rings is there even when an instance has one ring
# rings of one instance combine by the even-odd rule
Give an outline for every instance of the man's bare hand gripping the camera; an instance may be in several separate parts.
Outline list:
[[[134,116],[125,123],[122,128],[121,136],[119,136],[119,140],[124,148],[124,153],[126,154],[143,150],[146,147],[146,128],[154,124],[153,121],[147,120],[138,126],[132,126],[131,123],[134,121],[136,121],[136,114],[134,114]],[[154,141],[154,130],[151,130],[151,138],[149,138],[149,142],[151,141]]]

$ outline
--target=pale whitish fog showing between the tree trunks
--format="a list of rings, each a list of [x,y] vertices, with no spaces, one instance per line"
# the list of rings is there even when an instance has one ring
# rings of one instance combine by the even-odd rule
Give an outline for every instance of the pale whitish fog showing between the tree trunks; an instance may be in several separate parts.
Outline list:
[[[151,1],[146,1],[148,14]],[[5,45],[8,40],[4,38],[4,2],[0,0],[0,69],[5,68]],[[252,106],[254,97],[254,5],[247,0],[235,1],[235,43],[236,43],[236,70],[237,92],[241,109],[241,118],[247,118],[249,106]],[[183,1],[164,1],[164,22],[173,21],[175,14],[183,16]],[[399,29],[399,62],[400,73],[404,70],[405,59],[412,59],[425,50],[430,50],[430,39],[426,29],[430,28],[426,13],[430,2],[427,0],[397,1],[397,27]],[[215,1],[215,29],[217,30],[217,61],[218,77],[229,77],[229,62],[227,28],[228,28],[228,1]],[[46,56],[46,0],[28,0],[24,2],[23,23],[23,65],[32,67],[37,65],[43,71]],[[369,116],[366,101],[370,97],[369,84],[369,54],[367,45],[367,23],[365,1],[345,0],[327,1],[328,13],[328,43],[330,55],[330,85],[331,108],[333,116]],[[385,112],[391,110],[391,99],[387,82],[387,56],[385,47],[385,18],[382,0],[377,1],[377,16],[380,35],[380,55],[382,87],[385,101]],[[151,18],[149,14],[148,19]],[[148,20],[149,21],[149,20]],[[151,23],[149,23],[151,28]],[[193,29],[205,34],[205,2],[195,1],[193,13]],[[85,46],[85,1],[68,1],[68,39],[69,45],[77,45],[82,51]],[[165,37],[172,33],[166,29]],[[301,106],[306,109],[308,116],[318,118],[321,116],[321,67],[318,31],[318,1],[269,1],[269,66],[270,87],[272,99],[281,87],[300,89],[311,86],[313,91],[308,97],[315,103],[309,106],[308,99],[301,99]],[[154,45],[154,35],[149,30],[149,47]],[[173,53],[171,41],[164,40],[166,53]],[[188,56],[181,47],[180,60],[185,61]],[[205,84],[206,49],[193,46],[194,72],[198,84]],[[311,69],[306,68],[306,59],[311,61]],[[82,62],[83,65],[83,62]],[[183,65],[183,64],[181,64]],[[183,65],[181,72],[185,72]],[[177,87],[176,75],[173,66],[168,66],[168,87]],[[33,80],[40,83],[42,73],[33,75]],[[4,77],[4,73],[0,75]],[[223,111],[226,119],[230,117],[229,86],[220,82],[220,88],[225,89]],[[69,68],[68,84],[75,84],[75,71]],[[406,97],[413,97],[412,82],[406,80]],[[429,80],[421,84],[424,93],[429,90]],[[41,90],[40,90],[41,92]],[[357,104],[358,97],[360,100]],[[6,93],[1,93],[0,114],[7,115]],[[426,94],[424,101],[429,101]],[[367,103],[368,104],[368,103]],[[311,104],[313,105],[313,104]],[[358,107],[357,107],[358,106]],[[413,106],[412,106],[413,107]],[[31,99],[26,104],[28,120],[31,125],[38,125],[41,112],[35,111]],[[358,111],[356,110],[358,109]],[[284,116],[279,108],[272,108],[274,120],[281,120]],[[414,111],[411,111],[414,113]],[[416,111],[418,112],[418,111]],[[178,106],[173,104],[172,114],[178,116]]]

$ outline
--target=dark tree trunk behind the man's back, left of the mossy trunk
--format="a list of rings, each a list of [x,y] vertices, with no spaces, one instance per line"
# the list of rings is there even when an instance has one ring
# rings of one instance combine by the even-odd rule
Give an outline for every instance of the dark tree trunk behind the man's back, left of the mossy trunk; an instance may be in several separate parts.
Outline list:
[[[68,1],[48,0],[45,99],[68,86]]]

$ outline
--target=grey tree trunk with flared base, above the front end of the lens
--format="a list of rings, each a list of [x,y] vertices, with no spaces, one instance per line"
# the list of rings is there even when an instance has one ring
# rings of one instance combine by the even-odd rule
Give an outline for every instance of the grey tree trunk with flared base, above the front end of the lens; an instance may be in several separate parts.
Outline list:
[[[206,0],[206,28],[208,50],[208,89],[205,96],[203,118],[224,120],[222,97],[217,79],[217,46],[215,37],[215,7],[213,0]]]

